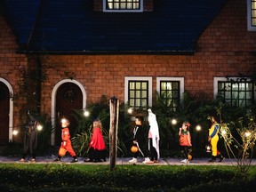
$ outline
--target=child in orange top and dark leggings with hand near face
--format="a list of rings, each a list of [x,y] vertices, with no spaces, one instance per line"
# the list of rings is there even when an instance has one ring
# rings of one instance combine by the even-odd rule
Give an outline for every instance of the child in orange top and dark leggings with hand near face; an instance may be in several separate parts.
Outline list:
[[[182,163],[189,163],[188,155],[189,155],[189,150],[192,146],[189,126],[190,124],[188,122],[184,122],[182,124],[182,127],[180,127],[180,132],[179,132],[180,146],[182,147],[182,152],[185,156],[185,159],[181,161]]]

